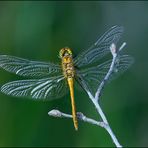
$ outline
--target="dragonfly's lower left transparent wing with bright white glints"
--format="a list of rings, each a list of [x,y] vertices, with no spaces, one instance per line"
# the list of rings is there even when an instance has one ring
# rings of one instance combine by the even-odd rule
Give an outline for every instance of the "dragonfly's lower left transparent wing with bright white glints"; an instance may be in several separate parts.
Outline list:
[[[7,95],[48,100],[62,97],[67,90],[63,76],[12,81],[1,87],[1,91]]]

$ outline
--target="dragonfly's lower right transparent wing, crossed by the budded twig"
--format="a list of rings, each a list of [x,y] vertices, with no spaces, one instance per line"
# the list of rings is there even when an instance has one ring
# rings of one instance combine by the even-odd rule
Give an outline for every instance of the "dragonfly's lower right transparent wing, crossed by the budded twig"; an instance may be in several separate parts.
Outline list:
[[[126,71],[130,65],[133,63],[133,58],[129,55],[119,56],[115,63],[115,69],[111,74],[108,82],[121,73]],[[111,65],[111,60],[104,62],[95,67],[91,67],[84,70],[77,71],[77,81],[85,89],[89,90],[93,95],[95,95],[101,81],[104,79]]]

